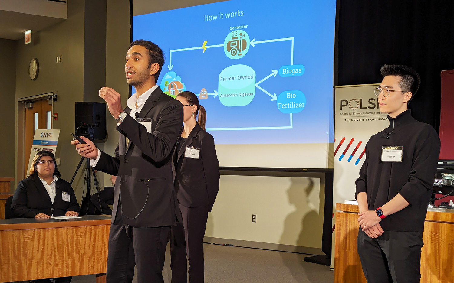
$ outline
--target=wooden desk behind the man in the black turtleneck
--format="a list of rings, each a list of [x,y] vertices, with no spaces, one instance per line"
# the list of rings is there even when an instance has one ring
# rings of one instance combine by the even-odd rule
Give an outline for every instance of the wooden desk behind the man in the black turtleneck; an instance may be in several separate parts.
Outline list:
[[[367,283],[356,249],[358,205],[336,204],[334,283]],[[421,253],[421,283],[454,282],[454,210],[429,208]]]

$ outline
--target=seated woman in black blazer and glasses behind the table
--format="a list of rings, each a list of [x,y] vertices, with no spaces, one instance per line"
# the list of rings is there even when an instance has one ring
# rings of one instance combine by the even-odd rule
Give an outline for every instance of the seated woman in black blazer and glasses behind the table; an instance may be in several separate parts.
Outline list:
[[[77,216],[79,204],[74,190],[60,179],[52,152],[39,151],[33,158],[28,178],[17,184],[11,211],[20,218]]]

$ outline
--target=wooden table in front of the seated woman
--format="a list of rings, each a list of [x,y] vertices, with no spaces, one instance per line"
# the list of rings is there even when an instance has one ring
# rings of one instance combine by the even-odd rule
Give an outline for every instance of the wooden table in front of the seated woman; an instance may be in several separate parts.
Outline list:
[[[81,217],[0,220],[0,283],[106,273],[110,216]]]

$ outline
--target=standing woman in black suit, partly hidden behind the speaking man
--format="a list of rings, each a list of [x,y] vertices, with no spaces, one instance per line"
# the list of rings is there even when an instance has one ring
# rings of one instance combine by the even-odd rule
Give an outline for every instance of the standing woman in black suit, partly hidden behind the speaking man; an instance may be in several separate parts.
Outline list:
[[[183,224],[178,223],[171,229],[172,282],[187,282],[188,256],[189,282],[201,283],[205,269],[203,236],[208,212],[219,190],[219,161],[214,139],[205,132],[206,112],[197,96],[185,91],[176,99],[183,104],[184,126],[173,156],[174,188]]]

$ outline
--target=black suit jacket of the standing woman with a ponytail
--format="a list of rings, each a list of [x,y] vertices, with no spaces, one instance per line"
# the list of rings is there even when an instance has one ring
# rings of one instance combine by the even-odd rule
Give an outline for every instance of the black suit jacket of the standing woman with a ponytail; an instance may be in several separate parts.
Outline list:
[[[186,146],[200,148],[199,158],[184,157]],[[219,190],[219,161],[214,139],[198,124],[192,129],[180,151],[174,154],[174,187],[180,204],[186,207],[209,206],[211,211]]]

